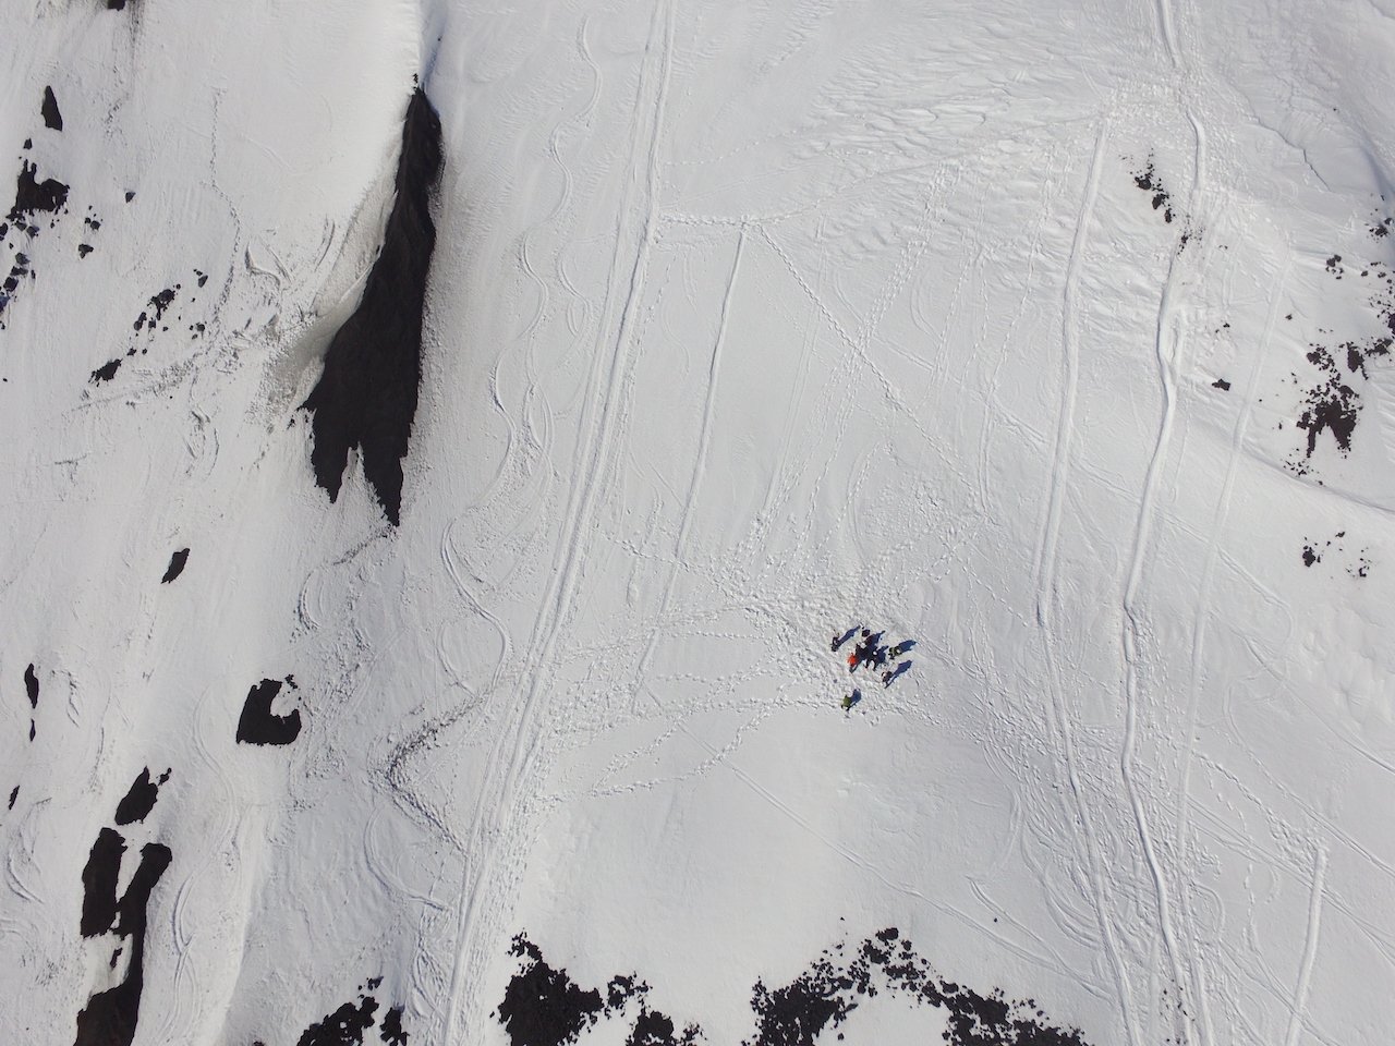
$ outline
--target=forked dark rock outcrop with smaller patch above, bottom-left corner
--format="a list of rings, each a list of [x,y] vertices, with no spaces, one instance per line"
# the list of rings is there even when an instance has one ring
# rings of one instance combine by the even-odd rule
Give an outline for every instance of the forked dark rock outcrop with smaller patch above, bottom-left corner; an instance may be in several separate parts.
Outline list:
[[[156,794],[149,794],[141,787],[142,778],[145,785],[156,789]],[[160,782],[167,778],[169,773],[166,771],[160,777]],[[149,770],[145,770],[131,787],[131,792],[127,792],[117,806],[117,824],[144,820],[156,798],[158,785],[149,782]],[[127,816],[126,820],[123,820],[123,814]],[[113,950],[112,968],[116,967],[126,947],[130,947],[131,951],[124,979],[114,987],[92,994],[86,1006],[78,1011],[74,1046],[130,1046],[135,1038],[135,1026],[141,1014],[141,990],[145,983],[146,909],[151,893],[170,866],[174,855],[169,847],[146,842],[141,847],[141,863],[137,866],[135,874],[131,876],[126,893],[117,897],[121,856],[126,849],[126,838],[119,831],[102,828],[82,869],[81,934],[100,937],[105,933],[113,933],[119,939],[130,939],[128,943]]]

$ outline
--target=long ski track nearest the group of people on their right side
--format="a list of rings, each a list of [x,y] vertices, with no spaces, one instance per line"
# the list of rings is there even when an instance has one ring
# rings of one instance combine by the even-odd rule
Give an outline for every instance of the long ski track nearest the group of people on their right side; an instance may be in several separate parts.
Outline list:
[[[1066,339],[1063,344],[1066,357],[1066,382],[1062,391],[1062,416],[1056,437],[1056,463],[1052,469],[1048,529],[1042,536],[1043,548],[1050,549],[1049,561],[1052,563],[1055,563],[1055,544],[1060,533],[1062,506],[1064,503],[1066,484],[1069,480],[1070,431],[1073,427],[1076,381],[1078,375],[1078,342],[1076,340],[1074,329],[1074,286],[1078,283],[1081,257],[1084,255],[1087,244],[1087,229],[1094,212],[1095,198],[1099,191],[1099,170],[1103,163],[1105,141],[1106,124],[1105,121],[1101,121],[1099,130],[1095,134],[1095,151],[1089,162],[1089,176],[1085,181],[1085,195],[1081,199],[1080,216],[1076,222],[1076,238],[1071,244],[1071,255],[1066,266],[1066,290],[1063,296],[1064,307],[1062,318],[1062,331]],[[1050,523],[1052,517],[1055,517],[1055,526]],[[1124,969],[1119,940],[1115,934],[1113,919],[1109,914],[1109,880],[1105,876],[1103,862],[1099,855],[1099,840],[1095,835],[1094,820],[1089,816],[1089,806],[1085,801],[1084,788],[1080,782],[1080,771],[1076,764],[1074,729],[1070,721],[1070,711],[1066,707],[1066,697],[1060,679],[1060,667],[1056,664],[1056,646],[1052,636],[1052,630],[1055,628],[1055,568],[1048,572],[1045,569],[1046,559],[1048,556],[1043,555],[1043,569],[1038,576],[1036,623],[1042,630],[1042,640],[1046,650],[1046,665],[1050,681],[1056,728],[1060,732],[1062,750],[1066,756],[1066,775],[1070,781],[1070,792],[1074,799],[1076,814],[1080,817],[1080,824],[1085,834],[1085,861],[1091,883],[1091,900],[1094,901],[1095,919],[1099,923],[1099,932],[1103,937],[1105,955],[1109,960],[1109,965],[1115,976],[1115,993],[1119,1000],[1124,1031],[1129,1033],[1129,1042],[1131,1046],[1140,1046],[1141,1040],[1133,1007],[1133,989],[1129,983],[1129,972]]]

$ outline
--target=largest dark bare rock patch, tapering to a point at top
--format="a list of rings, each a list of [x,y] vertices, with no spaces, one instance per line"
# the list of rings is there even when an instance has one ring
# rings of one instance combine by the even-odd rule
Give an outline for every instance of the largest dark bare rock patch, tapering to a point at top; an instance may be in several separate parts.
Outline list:
[[[382,252],[304,403],[314,411],[315,483],[331,502],[338,501],[349,450],[357,448],[364,477],[393,526],[400,519],[402,459],[421,382],[421,312],[435,250],[430,195],[439,173],[441,119],[418,88],[402,128],[396,201]]]

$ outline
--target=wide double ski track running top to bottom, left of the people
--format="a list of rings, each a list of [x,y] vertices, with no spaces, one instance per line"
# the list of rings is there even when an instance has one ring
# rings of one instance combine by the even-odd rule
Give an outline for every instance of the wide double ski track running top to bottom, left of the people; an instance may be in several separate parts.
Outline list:
[[[644,215],[640,219],[640,229],[638,230],[638,244],[635,248],[635,258],[628,273],[619,324],[614,339],[608,340],[611,356],[610,374],[607,377],[604,397],[600,399],[597,404],[598,417],[596,417],[589,425],[583,427],[586,446],[582,460],[585,469],[578,470],[583,471],[583,478],[579,488],[572,488],[572,497],[569,498],[569,502],[572,502],[569,505],[571,510],[564,520],[564,533],[559,543],[561,562],[555,563],[554,583],[544,596],[537,625],[534,626],[530,642],[530,649],[537,650],[537,668],[533,671],[531,681],[523,695],[519,714],[515,717],[512,725],[505,725],[499,734],[499,743],[505,743],[508,735],[512,734],[513,745],[508,764],[504,767],[504,780],[498,792],[498,799],[492,806],[494,816],[490,816],[490,809],[485,808],[481,801],[480,808],[477,808],[474,828],[470,837],[472,845],[466,852],[465,873],[470,877],[473,870],[473,883],[469,883],[467,888],[462,890],[462,904],[458,916],[459,930],[456,940],[456,960],[451,973],[449,997],[446,1000],[448,1008],[444,1038],[444,1042],[446,1043],[455,1040],[453,1032],[456,1015],[460,1010],[465,967],[467,965],[467,953],[472,950],[474,943],[473,937],[476,922],[478,919],[480,901],[484,895],[485,887],[491,884],[490,879],[499,863],[499,851],[506,844],[508,835],[512,834],[511,830],[513,828],[513,819],[518,813],[516,794],[520,778],[523,778],[526,771],[531,768],[534,760],[536,739],[530,736],[531,724],[536,717],[537,707],[543,702],[543,692],[547,688],[551,674],[557,649],[557,636],[561,630],[561,625],[566,619],[572,597],[575,596],[580,563],[585,547],[587,545],[587,538],[590,537],[591,522],[596,512],[598,488],[601,487],[601,481],[608,470],[611,444],[619,424],[615,406],[619,400],[621,389],[629,371],[629,343],[635,339],[635,326],[639,321],[644,275],[658,216],[658,146],[663,135],[664,106],[668,96],[668,82],[672,68],[672,22],[671,3],[657,4],[654,8],[650,39],[660,42],[657,56],[658,84],[657,88],[651,84],[656,78],[656,70],[644,68],[642,66],[639,98],[636,99],[635,130],[632,137],[632,156],[635,160],[639,160],[642,159],[639,155],[642,126],[649,120],[653,121],[647,149],[643,155],[643,160],[646,163],[644,184],[643,187],[633,185],[626,194],[629,199],[635,199],[635,197],[640,192],[643,194],[642,199]],[[653,53],[653,43],[647,50]],[[650,56],[646,54],[646,59],[647,57]],[[651,100],[646,98],[646,95],[650,93],[653,93]],[[651,116],[644,112],[646,109],[651,109]],[[631,169],[632,176],[638,176],[635,166]],[[629,245],[626,226],[629,225],[631,216],[628,212],[629,205],[622,209],[619,227],[617,230],[617,244],[615,254],[612,255],[610,280],[612,287],[617,282],[625,279],[622,272],[617,272],[617,266],[621,264],[622,252]],[[608,326],[608,324],[603,322],[603,335]],[[600,357],[597,358],[597,363]],[[587,404],[590,406],[591,403],[597,403],[596,396],[589,397]],[[497,763],[498,750],[499,745],[495,745],[490,759],[491,771]],[[490,777],[494,777],[494,774],[491,773]],[[481,845],[484,852],[480,854],[476,861],[472,861],[472,858],[474,858],[474,855],[481,849]]]

